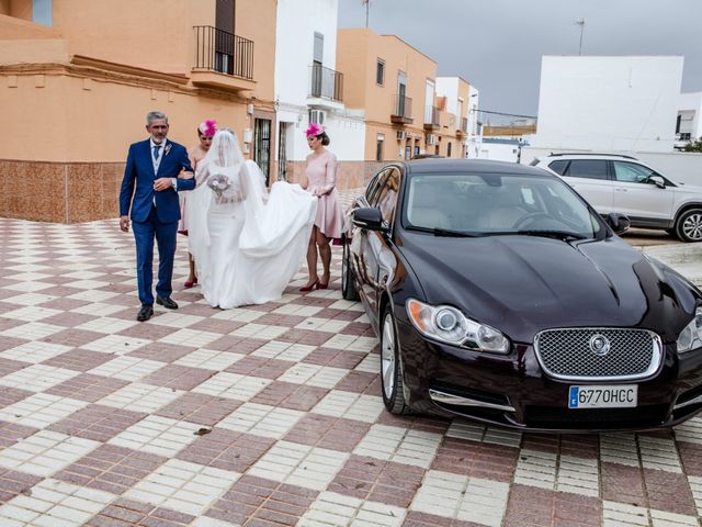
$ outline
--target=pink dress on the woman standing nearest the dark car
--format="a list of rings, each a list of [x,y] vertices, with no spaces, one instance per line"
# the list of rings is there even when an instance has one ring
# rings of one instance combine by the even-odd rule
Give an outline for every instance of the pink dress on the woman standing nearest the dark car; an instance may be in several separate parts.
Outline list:
[[[328,238],[340,238],[343,232],[343,212],[337,192],[337,156],[329,150],[307,156],[307,192],[319,197],[315,225]]]

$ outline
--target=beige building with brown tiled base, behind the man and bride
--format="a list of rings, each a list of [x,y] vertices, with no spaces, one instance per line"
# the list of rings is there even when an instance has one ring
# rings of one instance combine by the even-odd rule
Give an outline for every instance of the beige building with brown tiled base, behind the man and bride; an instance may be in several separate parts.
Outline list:
[[[0,216],[116,217],[148,111],[234,128],[273,173],[275,0],[0,0]],[[47,191],[50,189],[50,191]]]

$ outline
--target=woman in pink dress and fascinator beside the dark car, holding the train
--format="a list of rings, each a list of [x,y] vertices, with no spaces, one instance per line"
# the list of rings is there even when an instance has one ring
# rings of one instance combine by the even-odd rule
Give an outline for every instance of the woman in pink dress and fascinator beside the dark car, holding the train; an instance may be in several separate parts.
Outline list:
[[[315,226],[307,247],[307,267],[309,280],[299,288],[302,292],[313,289],[327,289],[329,287],[331,265],[331,238],[340,238],[343,229],[343,213],[339,204],[337,192],[337,156],[327,150],[329,136],[321,126],[312,123],[307,131],[307,145],[313,150],[307,156],[305,176],[307,177],[306,190],[317,197],[317,215]],[[321,278],[317,273],[317,255],[321,260]]]

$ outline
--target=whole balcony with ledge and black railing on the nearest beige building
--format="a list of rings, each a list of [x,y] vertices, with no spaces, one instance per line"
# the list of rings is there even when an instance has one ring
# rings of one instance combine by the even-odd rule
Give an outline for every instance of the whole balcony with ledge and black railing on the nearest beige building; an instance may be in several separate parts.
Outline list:
[[[252,90],[256,87],[252,41],[212,25],[196,25],[193,30],[193,85],[230,91]]]

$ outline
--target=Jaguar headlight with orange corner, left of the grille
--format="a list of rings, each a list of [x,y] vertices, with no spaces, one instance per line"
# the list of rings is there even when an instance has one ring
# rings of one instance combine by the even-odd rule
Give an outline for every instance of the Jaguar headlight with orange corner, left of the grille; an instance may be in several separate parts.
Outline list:
[[[490,326],[466,318],[450,305],[434,306],[409,299],[407,314],[417,330],[429,338],[492,354],[509,351],[509,339],[505,335]]]

